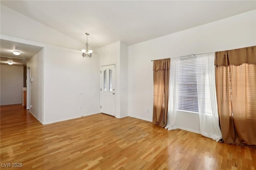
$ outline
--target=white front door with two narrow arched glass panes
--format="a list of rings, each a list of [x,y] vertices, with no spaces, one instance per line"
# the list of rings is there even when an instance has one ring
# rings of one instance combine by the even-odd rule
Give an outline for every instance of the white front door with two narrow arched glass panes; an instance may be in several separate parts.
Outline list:
[[[115,65],[101,67],[100,103],[101,113],[115,116]]]

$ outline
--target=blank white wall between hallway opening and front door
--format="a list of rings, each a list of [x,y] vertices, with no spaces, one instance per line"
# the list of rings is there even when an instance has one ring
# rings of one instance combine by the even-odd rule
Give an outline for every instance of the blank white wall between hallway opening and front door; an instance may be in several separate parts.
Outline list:
[[[100,113],[100,58],[81,51],[45,47],[45,124]]]

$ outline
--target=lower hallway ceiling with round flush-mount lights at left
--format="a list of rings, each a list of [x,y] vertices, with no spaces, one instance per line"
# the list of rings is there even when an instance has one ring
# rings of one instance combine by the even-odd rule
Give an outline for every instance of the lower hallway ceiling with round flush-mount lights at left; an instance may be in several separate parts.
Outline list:
[[[42,47],[35,45],[29,45],[24,43],[12,42],[7,40],[0,40],[0,63],[7,64],[8,61],[12,61],[13,65],[26,65],[26,61],[38,53]],[[13,50],[19,48],[20,55],[14,55]]]

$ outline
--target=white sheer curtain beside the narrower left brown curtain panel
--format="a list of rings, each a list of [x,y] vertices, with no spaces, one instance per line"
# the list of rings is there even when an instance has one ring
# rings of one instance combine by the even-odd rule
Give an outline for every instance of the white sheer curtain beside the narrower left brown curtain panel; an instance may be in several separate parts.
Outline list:
[[[167,117],[167,124],[166,129],[173,130],[176,129],[175,127],[175,117],[177,113],[178,107],[178,95],[179,95],[179,87],[178,83],[176,84],[176,77],[178,75],[178,67],[180,63],[180,58],[171,58],[170,63],[170,80],[169,80],[169,102],[168,102],[168,117]]]

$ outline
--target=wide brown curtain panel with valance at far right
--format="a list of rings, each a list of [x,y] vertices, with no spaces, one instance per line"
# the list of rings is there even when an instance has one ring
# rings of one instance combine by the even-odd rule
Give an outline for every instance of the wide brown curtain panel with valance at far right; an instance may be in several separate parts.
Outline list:
[[[256,147],[256,46],[215,53],[223,141]]]

